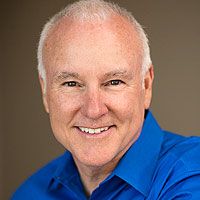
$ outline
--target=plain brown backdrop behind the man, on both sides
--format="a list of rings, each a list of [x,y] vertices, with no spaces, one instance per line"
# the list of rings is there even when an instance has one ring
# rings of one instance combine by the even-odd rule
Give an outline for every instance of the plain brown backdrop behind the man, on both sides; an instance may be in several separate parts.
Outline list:
[[[67,0],[1,0],[0,199],[63,149],[51,134],[37,80],[39,32]],[[161,126],[200,135],[200,1],[115,1],[150,38],[155,66],[152,110]]]

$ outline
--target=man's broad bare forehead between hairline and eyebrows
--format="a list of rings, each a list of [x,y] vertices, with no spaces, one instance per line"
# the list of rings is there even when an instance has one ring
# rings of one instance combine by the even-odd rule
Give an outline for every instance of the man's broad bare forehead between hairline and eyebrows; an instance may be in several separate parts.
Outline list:
[[[139,63],[141,44],[134,27],[122,17],[113,16],[96,22],[74,22],[63,17],[50,30],[44,43],[43,57],[45,67],[69,64],[70,60],[73,64],[75,61],[80,64],[86,61],[85,58],[90,64],[103,60],[108,65],[111,62]]]

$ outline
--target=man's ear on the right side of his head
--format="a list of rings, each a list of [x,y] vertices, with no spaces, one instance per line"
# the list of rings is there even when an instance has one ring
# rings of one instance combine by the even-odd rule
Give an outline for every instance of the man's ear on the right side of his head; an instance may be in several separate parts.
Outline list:
[[[144,90],[145,90],[144,107],[145,109],[148,109],[151,103],[153,80],[154,80],[154,69],[153,69],[153,65],[151,65],[144,77]]]

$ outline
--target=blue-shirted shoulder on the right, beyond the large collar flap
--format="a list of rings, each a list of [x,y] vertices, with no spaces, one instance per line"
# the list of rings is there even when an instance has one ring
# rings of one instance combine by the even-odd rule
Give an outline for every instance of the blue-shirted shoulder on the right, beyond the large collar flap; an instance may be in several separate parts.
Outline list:
[[[165,132],[154,183],[160,199],[200,196],[200,138]]]

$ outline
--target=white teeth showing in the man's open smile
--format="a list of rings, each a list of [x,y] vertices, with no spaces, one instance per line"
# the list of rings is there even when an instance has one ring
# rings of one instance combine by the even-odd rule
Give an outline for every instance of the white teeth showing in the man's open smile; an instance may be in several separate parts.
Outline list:
[[[113,126],[105,126],[105,127],[99,127],[99,128],[89,128],[89,127],[77,126],[77,128],[82,133],[85,133],[85,134],[88,134],[88,135],[98,135],[98,134],[101,134],[103,132],[108,131]]]

